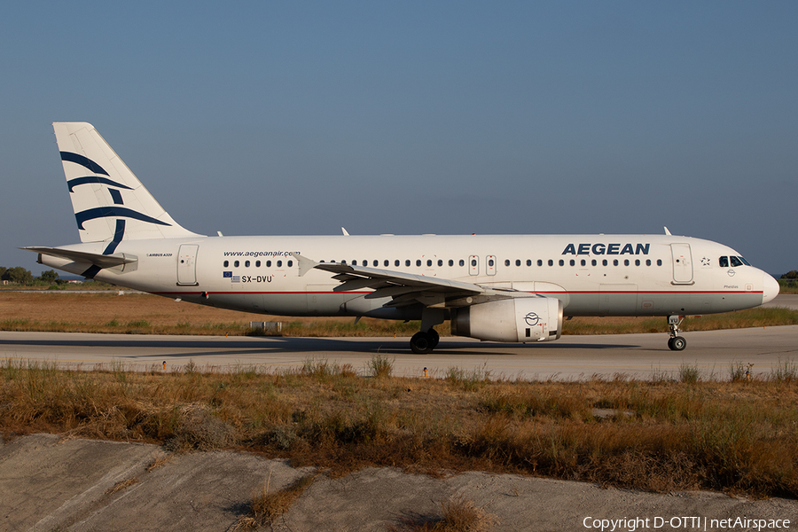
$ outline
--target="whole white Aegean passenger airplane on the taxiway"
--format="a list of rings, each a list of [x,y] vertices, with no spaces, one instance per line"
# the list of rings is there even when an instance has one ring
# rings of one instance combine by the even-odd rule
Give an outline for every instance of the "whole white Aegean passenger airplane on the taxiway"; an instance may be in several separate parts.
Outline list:
[[[27,246],[40,264],[179,301],[277,316],[420,320],[479,340],[558,340],[564,317],[685,315],[772,301],[778,282],[738,252],[663,235],[208,237],[184,229],[87,122],[54,122],[81,244]]]

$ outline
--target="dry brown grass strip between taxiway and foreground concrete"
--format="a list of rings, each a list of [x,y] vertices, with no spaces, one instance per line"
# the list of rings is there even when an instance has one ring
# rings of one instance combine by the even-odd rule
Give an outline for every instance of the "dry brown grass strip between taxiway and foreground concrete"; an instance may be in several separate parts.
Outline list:
[[[372,379],[324,360],[233,373],[10,360],[0,365],[0,430],[251,450],[332,476],[375,465],[798,497],[796,372],[784,361],[752,381],[732,372],[558,383],[457,368],[442,379]]]

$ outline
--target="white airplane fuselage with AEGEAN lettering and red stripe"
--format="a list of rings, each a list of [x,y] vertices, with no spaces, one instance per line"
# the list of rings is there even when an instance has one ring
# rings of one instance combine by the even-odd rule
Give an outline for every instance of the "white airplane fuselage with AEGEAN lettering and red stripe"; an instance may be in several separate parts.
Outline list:
[[[63,248],[101,254],[104,246]],[[292,254],[542,294],[562,301],[566,316],[709,314],[755,307],[778,293],[762,270],[730,264],[729,257],[739,263],[732,248],[671,235],[196,237],[123,240],[116,253],[136,256],[135,267],[100,270],[95,278],[278,316],[421,316],[418,307],[384,308],[389,298],[365,298],[370,288],[335,292],[340,281],[332,273],[301,272]],[[85,269],[42,260],[73,273]]]

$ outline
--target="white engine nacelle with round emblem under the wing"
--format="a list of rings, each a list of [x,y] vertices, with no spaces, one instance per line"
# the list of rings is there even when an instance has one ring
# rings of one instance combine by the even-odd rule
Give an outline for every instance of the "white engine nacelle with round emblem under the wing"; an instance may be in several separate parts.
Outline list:
[[[451,333],[480,340],[557,340],[562,332],[562,301],[520,297],[451,309]]]

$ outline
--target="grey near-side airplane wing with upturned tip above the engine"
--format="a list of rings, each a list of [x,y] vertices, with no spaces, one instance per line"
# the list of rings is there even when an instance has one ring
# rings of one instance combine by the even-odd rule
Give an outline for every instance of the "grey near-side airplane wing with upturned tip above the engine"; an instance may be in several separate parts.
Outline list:
[[[348,292],[372,288],[366,299],[390,297],[386,307],[402,307],[421,303],[426,307],[465,307],[476,303],[515,297],[537,297],[535,294],[509,288],[490,288],[446,278],[427,277],[395,270],[379,270],[338,262],[315,262],[299,254],[292,254],[300,264],[300,275],[311,269],[336,274],[340,281],[334,292]]]

